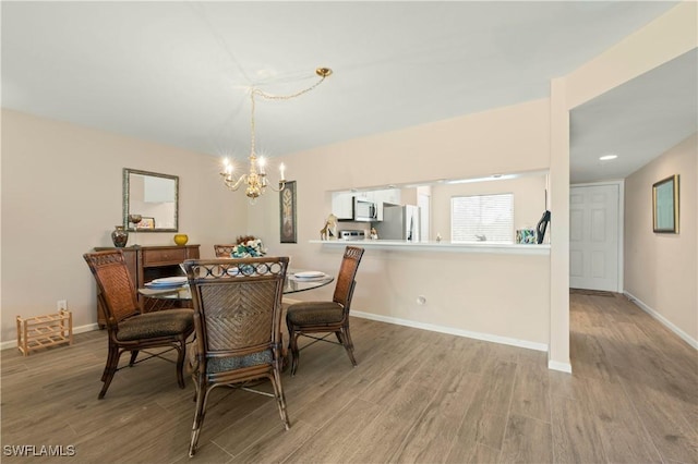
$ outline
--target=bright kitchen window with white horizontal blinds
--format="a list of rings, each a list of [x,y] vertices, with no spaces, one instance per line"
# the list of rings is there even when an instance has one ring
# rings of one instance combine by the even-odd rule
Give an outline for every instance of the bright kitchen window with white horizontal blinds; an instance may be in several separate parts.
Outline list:
[[[514,194],[452,197],[450,240],[514,243]]]

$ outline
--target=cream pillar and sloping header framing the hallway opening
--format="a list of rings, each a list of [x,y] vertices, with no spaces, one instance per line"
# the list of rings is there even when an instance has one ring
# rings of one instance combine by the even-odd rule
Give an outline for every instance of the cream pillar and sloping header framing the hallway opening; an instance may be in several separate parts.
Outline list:
[[[551,82],[550,364],[569,366],[569,111],[698,45],[698,3],[685,1],[564,77]]]

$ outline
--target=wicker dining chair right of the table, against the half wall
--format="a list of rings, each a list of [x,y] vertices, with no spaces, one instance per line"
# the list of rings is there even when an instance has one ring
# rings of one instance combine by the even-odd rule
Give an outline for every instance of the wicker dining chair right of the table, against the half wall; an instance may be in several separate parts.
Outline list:
[[[335,332],[337,340],[344,345],[353,366],[357,359],[353,356],[353,342],[349,332],[349,309],[351,297],[357,284],[354,278],[363,248],[358,246],[347,246],[341,259],[339,274],[335,284],[335,293],[330,302],[302,302],[288,307],[286,313],[286,325],[288,327],[288,347],[292,357],[291,375],[296,375],[300,351],[298,349],[298,338],[309,337],[314,340],[332,342],[325,338],[310,335],[310,333]]]

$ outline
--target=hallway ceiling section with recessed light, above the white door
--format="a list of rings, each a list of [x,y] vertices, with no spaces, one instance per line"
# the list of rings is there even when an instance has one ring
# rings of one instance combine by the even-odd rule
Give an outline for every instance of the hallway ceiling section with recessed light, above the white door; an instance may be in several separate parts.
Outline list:
[[[571,183],[635,172],[697,131],[698,50],[575,108],[570,129]]]

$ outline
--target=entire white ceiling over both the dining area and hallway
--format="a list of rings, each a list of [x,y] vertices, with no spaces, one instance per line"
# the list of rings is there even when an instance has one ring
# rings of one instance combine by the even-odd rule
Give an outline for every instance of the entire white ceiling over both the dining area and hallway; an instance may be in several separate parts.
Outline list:
[[[291,94],[332,68],[310,94],[257,101],[257,149],[276,156],[545,98],[551,78],[674,5],[2,2],[2,106],[244,158],[250,86]],[[695,131],[695,53],[650,74],[573,112],[573,180],[622,178]],[[640,164],[612,171],[606,151]]]

